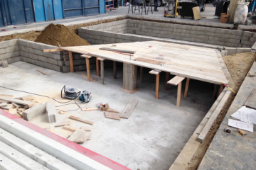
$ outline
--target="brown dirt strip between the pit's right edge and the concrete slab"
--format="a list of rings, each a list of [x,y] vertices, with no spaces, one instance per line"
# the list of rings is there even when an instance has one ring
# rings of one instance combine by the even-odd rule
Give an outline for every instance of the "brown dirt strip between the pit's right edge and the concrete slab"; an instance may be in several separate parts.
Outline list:
[[[235,55],[226,55],[223,56],[223,60],[230,72],[230,76],[232,77],[235,87],[233,90],[237,93],[242,85],[242,81],[244,81],[247,72],[249,72],[250,68],[252,67],[253,62],[255,62],[256,53],[255,52],[245,52],[245,53],[238,53]],[[255,73],[252,73],[255,74]],[[191,162],[188,162],[188,166],[186,167],[187,170],[195,170],[198,169],[198,166],[201,163],[204,155],[210,143],[215,136],[218,128],[220,128],[220,124],[222,123],[223,119],[225,118],[226,113],[228,112],[228,108],[230,108],[231,103],[233,102],[235,96],[230,95],[228,101],[225,103],[223,110],[218,115],[218,118],[215,120],[212,128],[208,132],[206,140],[201,143],[201,145],[196,150],[196,154],[194,154]]]

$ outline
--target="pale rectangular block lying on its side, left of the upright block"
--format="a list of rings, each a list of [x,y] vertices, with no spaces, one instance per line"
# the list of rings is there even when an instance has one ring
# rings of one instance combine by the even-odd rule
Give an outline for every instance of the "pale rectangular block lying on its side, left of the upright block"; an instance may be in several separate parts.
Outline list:
[[[25,120],[30,121],[43,113],[46,113],[46,105],[43,103],[38,103],[32,108],[28,108],[28,110],[23,111],[22,115]]]

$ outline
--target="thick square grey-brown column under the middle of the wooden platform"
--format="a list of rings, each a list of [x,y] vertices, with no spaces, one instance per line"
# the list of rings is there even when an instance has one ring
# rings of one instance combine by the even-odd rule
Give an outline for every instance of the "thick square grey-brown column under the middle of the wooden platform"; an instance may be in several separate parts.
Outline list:
[[[138,90],[137,87],[137,66],[133,64],[124,63],[123,70],[123,87],[122,91],[127,91],[133,94]]]

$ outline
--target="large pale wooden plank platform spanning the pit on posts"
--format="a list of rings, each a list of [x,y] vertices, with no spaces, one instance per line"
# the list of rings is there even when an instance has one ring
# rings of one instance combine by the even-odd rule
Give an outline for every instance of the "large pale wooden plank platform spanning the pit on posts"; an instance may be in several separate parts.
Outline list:
[[[228,79],[225,77],[218,60],[218,53],[220,53],[218,50],[158,41],[127,42],[114,45],[118,49],[134,50],[136,52],[133,56],[127,56],[112,51],[100,50],[102,47],[111,47],[112,44],[62,47],[62,49],[92,57],[101,57],[105,60],[158,69],[170,72],[173,75],[213,84],[221,84],[221,82],[228,84]],[[164,63],[164,67],[161,66],[162,63]]]

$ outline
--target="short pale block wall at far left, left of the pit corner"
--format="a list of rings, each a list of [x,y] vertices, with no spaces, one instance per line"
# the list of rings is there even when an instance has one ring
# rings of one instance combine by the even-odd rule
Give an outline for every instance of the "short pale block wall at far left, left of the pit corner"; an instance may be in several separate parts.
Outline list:
[[[0,64],[1,62],[13,62],[21,61],[20,52],[18,50],[18,39],[6,40],[0,42]]]

